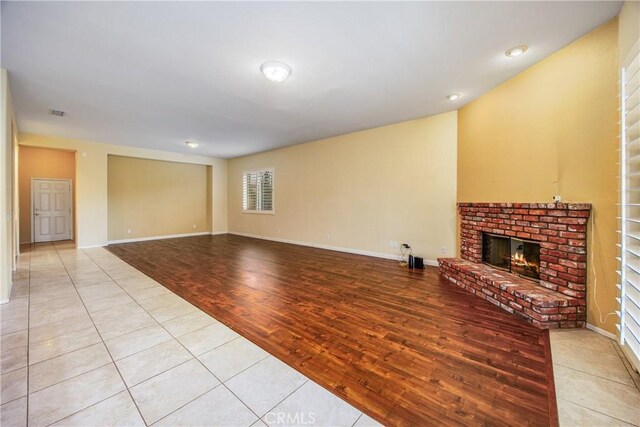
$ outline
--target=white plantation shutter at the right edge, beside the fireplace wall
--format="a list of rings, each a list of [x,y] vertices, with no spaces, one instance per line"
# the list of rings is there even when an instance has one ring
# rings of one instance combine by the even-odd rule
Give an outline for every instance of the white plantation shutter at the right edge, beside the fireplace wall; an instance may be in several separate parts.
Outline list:
[[[636,43],[620,73],[620,344],[640,359],[640,57]]]

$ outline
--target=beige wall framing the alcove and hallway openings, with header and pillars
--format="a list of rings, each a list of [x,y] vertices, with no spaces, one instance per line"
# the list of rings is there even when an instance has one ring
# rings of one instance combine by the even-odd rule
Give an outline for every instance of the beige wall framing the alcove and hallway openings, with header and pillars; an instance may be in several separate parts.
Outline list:
[[[194,163],[211,166],[210,229],[227,230],[227,161],[77,139],[20,134],[21,146],[77,151],[76,242],[78,247],[103,246],[108,241],[107,158],[109,155]]]

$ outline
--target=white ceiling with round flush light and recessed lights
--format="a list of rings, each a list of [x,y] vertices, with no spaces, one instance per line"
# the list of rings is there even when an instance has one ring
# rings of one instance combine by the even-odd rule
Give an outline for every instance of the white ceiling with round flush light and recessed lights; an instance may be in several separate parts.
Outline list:
[[[458,109],[621,5],[3,1],[1,59],[21,132],[229,158]]]

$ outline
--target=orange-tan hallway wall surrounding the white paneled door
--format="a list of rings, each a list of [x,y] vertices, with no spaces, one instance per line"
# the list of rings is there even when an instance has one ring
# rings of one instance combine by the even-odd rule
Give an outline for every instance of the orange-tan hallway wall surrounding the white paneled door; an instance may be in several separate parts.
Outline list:
[[[31,178],[71,179],[73,180],[72,186],[75,186],[75,169],[76,155],[74,152],[20,147],[18,188],[20,194],[21,243],[33,241],[33,236],[31,235]],[[73,224],[75,224],[75,221],[73,221]]]

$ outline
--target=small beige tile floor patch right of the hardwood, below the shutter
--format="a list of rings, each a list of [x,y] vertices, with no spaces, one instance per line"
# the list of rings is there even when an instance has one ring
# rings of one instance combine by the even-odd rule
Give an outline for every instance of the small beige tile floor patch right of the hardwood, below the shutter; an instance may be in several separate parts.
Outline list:
[[[587,329],[551,331],[561,426],[640,425],[640,377],[616,342]]]

